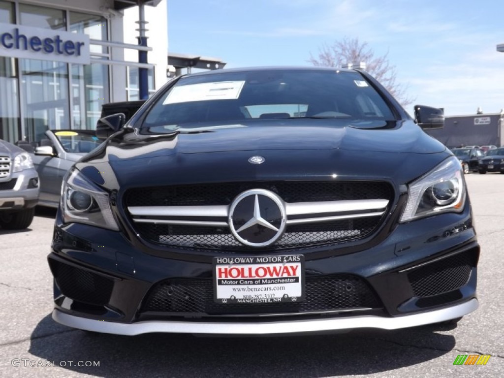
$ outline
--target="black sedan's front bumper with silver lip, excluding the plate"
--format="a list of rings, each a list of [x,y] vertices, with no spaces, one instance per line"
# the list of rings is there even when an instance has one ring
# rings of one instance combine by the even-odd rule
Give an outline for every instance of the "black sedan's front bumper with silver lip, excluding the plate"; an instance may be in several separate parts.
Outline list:
[[[119,232],[63,225],[58,213],[48,257],[55,277],[54,320],[123,335],[260,335],[413,327],[459,318],[478,306],[479,245],[468,202],[460,214],[398,224],[368,248],[359,250],[357,244],[351,253],[338,255],[338,249],[325,247],[317,258],[305,253],[306,286],[309,280],[327,279],[330,288],[324,298],[331,296],[331,290],[337,296],[334,282],[351,282],[353,288],[360,288],[349,291],[348,302],[340,306],[322,308],[320,303],[326,299],[317,299],[319,307],[311,306],[307,295],[302,303],[309,308],[269,311],[263,307],[263,311],[256,305],[227,313],[212,302],[211,259],[218,252],[175,253],[158,247],[154,254],[150,248],[153,246],[130,241]],[[163,250],[165,257],[160,256]],[[345,288],[348,286],[338,290],[345,293]],[[175,295],[170,294],[172,289]],[[318,292],[312,294],[319,298]],[[369,295],[375,300],[362,299]],[[151,305],[153,298],[156,305]]]

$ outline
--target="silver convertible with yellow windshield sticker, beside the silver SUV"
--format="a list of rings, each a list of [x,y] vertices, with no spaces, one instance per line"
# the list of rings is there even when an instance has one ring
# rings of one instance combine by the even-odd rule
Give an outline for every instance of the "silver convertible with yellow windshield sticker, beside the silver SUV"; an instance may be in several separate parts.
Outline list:
[[[63,177],[76,161],[98,147],[101,141],[92,130],[48,130],[45,136],[32,156],[40,177],[39,205],[57,208]]]

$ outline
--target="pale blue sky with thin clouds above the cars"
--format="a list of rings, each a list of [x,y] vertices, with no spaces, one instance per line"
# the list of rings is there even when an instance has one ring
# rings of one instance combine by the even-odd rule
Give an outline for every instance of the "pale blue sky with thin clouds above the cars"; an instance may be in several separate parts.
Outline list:
[[[501,0],[168,0],[168,50],[217,57],[227,68],[309,66],[323,45],[359,38],[375,56],[388,52],[414,104],[497,113],[502,15]]]

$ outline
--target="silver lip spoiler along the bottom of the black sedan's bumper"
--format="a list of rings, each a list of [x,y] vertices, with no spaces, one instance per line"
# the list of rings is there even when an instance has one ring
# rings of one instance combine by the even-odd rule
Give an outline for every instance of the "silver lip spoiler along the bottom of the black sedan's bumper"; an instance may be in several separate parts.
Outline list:
[[[474,298],[455,306],[394,318],[355,316],[337,319],[287,320],[261,323],[146,321],[128,324],[80,318],[57,309],[54,309],[52,312],[52,319],[72,328],[126,336],[152,332],[214,335],[278,335],[358,328],[396,330],[460,318],[474,311],[478,308],[478,305],[478,300]]]

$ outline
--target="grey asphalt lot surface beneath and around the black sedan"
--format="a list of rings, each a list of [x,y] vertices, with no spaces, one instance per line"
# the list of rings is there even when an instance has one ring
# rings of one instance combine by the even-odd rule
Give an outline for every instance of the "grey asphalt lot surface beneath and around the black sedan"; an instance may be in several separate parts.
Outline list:
[[[100,335],[52,321],[46,256],[55,211],[30,229],[0,229],[2,377],[502,377],[504,174],[468,174],[481,257],[480,307],[458,326],[290,337]],[[460,354],[486,365],[453,365]]]

